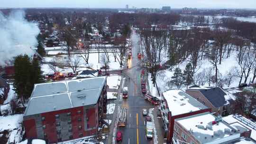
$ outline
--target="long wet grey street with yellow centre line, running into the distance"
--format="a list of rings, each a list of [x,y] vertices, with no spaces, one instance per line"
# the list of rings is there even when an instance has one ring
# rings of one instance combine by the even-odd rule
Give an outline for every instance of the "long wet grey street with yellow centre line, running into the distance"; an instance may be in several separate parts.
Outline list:
[[[140,61],[137,53],[140,53],[139,37],[132,33],[132,58],[127,61],[128,71],[125,72],[126,82],[124,86],[128,86],[128,99],[123,99],[122,106],[128,108],[126,127],[118,127],[117,130],[122,131],[122,144],[153,144],[153,139],[146,138],[146,122],[142,115],[142,109],[153,108],[151,103],[143,98],[140,84]]]

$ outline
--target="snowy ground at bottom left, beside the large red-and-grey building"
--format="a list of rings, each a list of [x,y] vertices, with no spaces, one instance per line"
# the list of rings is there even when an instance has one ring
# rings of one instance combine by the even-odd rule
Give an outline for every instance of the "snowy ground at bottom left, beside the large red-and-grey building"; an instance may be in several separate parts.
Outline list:
[[[0,132],[9,131],[7,144],[21,141],[24,132],[22,132],[23,114],[0,117]]]

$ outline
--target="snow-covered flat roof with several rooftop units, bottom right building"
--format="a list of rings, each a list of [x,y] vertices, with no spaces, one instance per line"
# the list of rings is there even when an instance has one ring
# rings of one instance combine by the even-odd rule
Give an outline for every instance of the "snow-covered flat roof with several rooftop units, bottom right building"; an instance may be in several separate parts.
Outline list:
[[[212,125],[212,121],[215,121],[215,119],[214,115],[206,112],[175,119],[175,121],[189,131],[201,144],[209,142],[221,144],[240,137],[240,133],[234,132],[234,129],[223,121],[219,121],[218,125]]]

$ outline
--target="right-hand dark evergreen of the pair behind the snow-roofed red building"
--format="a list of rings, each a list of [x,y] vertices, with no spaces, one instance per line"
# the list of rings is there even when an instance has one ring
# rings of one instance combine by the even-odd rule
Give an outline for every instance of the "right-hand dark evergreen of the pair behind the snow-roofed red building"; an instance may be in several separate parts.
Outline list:
[[[193,73],[192,64],[191,63],[187,63],[186,64],[186,68],[185,68],[185,70],[183,72],[184,84],[187,86],[187,88],[194,81],[193,80],[193,76],[194,76],[194,73]]]

